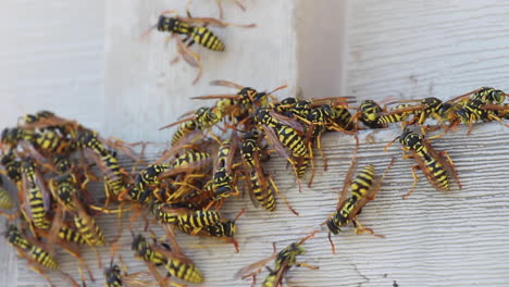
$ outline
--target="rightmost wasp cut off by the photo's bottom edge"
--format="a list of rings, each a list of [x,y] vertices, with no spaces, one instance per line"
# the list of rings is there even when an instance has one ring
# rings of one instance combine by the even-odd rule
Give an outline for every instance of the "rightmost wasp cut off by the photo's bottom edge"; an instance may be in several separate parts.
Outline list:
[[[247,277],[252,277],[253,285],[254,285],[257,274],[261,272],[263,266],[265,266],[269,262],[274,260],[274,269],[272,270],[268,267],[269,275],[263,280],[262,286],[263,287],[277,287],[282,285],[283,277],[293,266],[305,266],[305,267],[312,269],[312,270],[320,269],[319,266],[312,266],[305,262],[297,262],[298,255],[306,254],[306,249],[302,247],[302,244],[307,241],[309,238],[312,238],[314,234],[316,233],[318,230],[300,239],[300,241],[298,242],[290,244],[289,246],[285,247],[280,252],[276,252],[276,247],[274,244],[273,245],[274,252],[270,257],[262,259],[258,262],[254,262],[239,270],[236,273],[236,277],[241,277],[243,279]]]

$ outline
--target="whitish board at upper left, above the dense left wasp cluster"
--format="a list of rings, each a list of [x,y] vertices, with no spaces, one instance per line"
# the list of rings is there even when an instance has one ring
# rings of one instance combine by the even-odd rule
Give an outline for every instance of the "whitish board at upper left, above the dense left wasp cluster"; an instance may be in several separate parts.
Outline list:
[[[104,9],[94,0],[2,1],[0,124],[51,110],[101,130]]]

